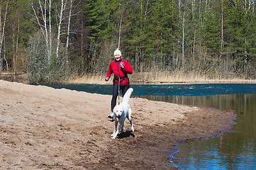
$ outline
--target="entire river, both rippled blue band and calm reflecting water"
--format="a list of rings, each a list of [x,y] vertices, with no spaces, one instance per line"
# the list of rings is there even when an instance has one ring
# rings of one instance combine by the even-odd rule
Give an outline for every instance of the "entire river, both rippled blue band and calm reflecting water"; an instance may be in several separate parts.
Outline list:
[[[111,85],[48,85],[111,94]],[[218,137],[177,144],[170,162],[179,169],[256,169],[256,84],[131,85],[133,96],[154,101],[233,109],[233,129]]]

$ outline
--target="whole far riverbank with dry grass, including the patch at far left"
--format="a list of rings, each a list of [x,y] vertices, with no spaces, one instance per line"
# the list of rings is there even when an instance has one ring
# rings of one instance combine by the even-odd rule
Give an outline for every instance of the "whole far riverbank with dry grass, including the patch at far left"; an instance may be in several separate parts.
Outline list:
[[[105,74],[86,74],[84,77],[73,77],[60,84],[113,84],[113,81],[104,81]],[[256,79],[243,79],[232,77],[230,79],[209,79],[206,76],[191,74],[170,74],[169,72],[154,73],[133,73],[130,77],[130,84],[256,84]],[[27,74],[1,74],[2,80],[28,84]],[[112,79],[112,78],[111,78]]]

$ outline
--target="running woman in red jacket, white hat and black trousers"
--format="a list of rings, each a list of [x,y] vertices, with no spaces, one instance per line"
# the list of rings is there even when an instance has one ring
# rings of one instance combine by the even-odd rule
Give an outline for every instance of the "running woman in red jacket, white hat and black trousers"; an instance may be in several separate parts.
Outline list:
[[[108,67],[108,74],[106,74],[106,81],[111,77],[113,73],[113,96],[111,100],[111,115],[108,115],[108,118],[113,118],[113,108],[116,106],[116,98],[118,96],[118,84],[120,78],[120,90],[122,94],[126,94],[126,91],[129,89],[129,79],[127,74],[133,74],[133,67],[130,66],[130,63],[126,60],[122,60],[122,53],[118,48],[113,52],[115,61],[111,62]]]

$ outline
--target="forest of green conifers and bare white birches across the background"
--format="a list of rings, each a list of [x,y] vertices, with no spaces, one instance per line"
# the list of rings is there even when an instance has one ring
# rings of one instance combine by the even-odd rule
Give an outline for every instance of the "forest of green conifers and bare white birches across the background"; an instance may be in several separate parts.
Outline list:
[[[30,83],[106,72],[119,45],[135,72],[255,79],[253,0],[1,0],[0,15],[0,70]]]

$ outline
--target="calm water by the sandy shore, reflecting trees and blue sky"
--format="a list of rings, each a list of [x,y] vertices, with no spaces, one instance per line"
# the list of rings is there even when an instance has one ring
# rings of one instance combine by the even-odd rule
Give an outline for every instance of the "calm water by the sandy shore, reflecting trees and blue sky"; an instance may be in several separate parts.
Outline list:
[[[171,155],[172,164],[179,169],[256,169],[256,94],[181,96],[177,103],[181,101],[233,109],[236,123],[218,137],[177,145],[176,153]]]

